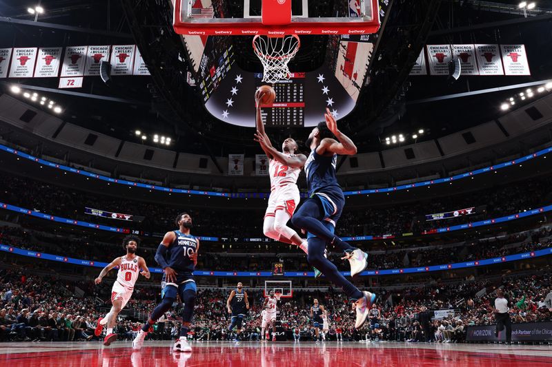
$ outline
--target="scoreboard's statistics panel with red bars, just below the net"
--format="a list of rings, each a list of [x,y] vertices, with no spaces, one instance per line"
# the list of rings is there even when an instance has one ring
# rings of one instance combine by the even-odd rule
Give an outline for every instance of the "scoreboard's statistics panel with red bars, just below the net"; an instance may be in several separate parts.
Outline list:
[[[255,90],[263,85],[262,74],[255,74]],[[278,81],[272,87],[276,92],[273,104],[261,107],[265,125],[270,127],[304,126],[304,81],[305,73],[292,73],[287,81]]]

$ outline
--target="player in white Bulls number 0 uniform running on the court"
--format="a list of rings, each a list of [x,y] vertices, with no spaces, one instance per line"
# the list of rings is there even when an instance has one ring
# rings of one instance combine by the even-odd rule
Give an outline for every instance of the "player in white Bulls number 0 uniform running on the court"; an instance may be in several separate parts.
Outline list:
[[[117,273],[117,280],[113,283],[111,289],[111,311],[105,316],[98,319],[98,325],[94,334],[99,337],[103,326],[107,324],[108,330],[106,337],[103,338],[103,345],[108,346],[112,342],[117,340],[117,334],[113,333],[113,326],[117,321],[117,315],[126,306],[132,291],[134,291],[134,284],[138,279],[138,275],[144,275],[146,279],[150,279],[150,271],[146,266],[146,260],[136,255],[136,249],[140,240],[134,235],[127,235],[123,240],[123,247],[126,249],[126,255],[121,258],[116,258],[108,266],[103,268],[101,273],[95,279],[96,284],[100,284],[104,276],[115,266],[119,266],[119,272]],[[141,269],[141,271],[140,271]]]

